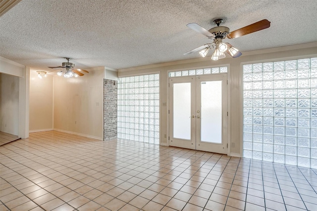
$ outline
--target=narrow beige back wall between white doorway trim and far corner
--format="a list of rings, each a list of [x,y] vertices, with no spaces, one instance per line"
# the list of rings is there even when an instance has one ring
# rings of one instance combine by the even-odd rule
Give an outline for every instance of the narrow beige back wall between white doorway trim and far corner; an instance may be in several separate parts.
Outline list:
[[[53,130],[53,75],[30,71],[30,132]]]

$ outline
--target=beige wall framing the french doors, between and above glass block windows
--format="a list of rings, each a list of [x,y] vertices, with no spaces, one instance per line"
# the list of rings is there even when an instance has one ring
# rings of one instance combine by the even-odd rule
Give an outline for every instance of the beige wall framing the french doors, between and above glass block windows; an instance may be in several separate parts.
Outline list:
[[[314,47],[311,47],[314,46]],[[162,106],[167,102],[167,72],[172,70],[196,69],[203,67],[212,67],[229,64],[229,146],[235,143],[234,148],[230,148],[231,154],[242,155],[242,64],[264,61],[278,61],[296,58],[305,58],[317,56],[316,43],[312,45],[303,45],[298,47],[285,47],[278,50],[264,50],[261,52],[245,53],[246,55],[238,58],[227,56],[218,61],[211,61],[210,56],[206,58],[170,62],[159,65],[149,65],[128,69],[119,69],[118,76],[139,75],[151,72],[160,72],[160,141],[167,143],[164,135],[168,136],[167,128],[167,106]],[[300,48],[300,49],[298,49]],[[168,105],[168,104],[167,104]]]

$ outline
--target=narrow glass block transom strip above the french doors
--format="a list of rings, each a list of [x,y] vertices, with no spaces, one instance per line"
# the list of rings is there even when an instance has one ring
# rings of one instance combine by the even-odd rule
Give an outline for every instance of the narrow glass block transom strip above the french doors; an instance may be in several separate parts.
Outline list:
[[[181,76],[189,76],[189,75],[208,75],[214,73],[227,73],[228,67],[212,67],[205,69],[196,69],[196,70],[184,70],[184,71],[175,71],[169,72],[168,77],[181,77]]]

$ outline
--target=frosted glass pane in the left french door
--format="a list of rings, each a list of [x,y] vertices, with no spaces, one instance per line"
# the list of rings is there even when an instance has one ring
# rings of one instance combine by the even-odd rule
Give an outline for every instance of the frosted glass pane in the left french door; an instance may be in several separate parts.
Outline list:
[[[173,138],[191,140],[191,83],[173,86]]]

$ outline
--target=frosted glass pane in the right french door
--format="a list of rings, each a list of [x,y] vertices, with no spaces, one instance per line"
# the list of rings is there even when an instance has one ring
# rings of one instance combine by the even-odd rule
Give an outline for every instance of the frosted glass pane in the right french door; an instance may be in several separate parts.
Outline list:
[[[221,81],[201,83],[201,141],[221,144]]]

